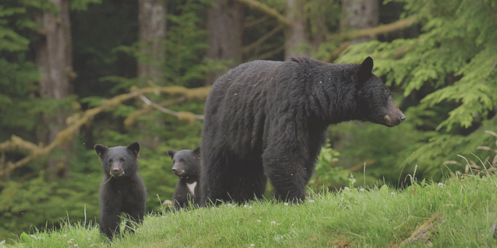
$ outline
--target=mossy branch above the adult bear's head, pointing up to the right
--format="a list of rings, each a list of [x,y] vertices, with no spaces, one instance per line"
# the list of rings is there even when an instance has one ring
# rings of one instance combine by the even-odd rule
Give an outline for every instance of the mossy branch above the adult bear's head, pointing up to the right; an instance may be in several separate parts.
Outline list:
[[[390,33],[393,31],[405,29],[407,27],[412,26],[413,24],[416,24],[419,22],[419,19],[415,17],[409,17],[406,19],[398,20],[393,23],[385,24],[385,25],[380,25],[374,28],[368,28],[368,29],[359,29],[359,30],[354,30],[350,32],[345,32],[345,33],[337,33],[337,34],[331,34],[326,37],[326,40],[336,40],[336,39],[344,39],[344,40],[354,40],[360,37],[374,37],[379,34],[384,34],[384,33]]]

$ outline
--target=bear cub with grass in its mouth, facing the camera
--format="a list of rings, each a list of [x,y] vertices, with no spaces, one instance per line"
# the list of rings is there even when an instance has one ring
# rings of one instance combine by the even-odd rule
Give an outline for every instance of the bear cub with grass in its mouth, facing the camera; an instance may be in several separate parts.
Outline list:
[[[138,223],[145,215],[146,188],[138,174],[138,152],[140,143],[135,141],[126,147],[95,145],[102,161],[104,178],[100,184],[100,230],[109,239],[119,233],[119,215],[127,216]],[[128,229],[128,228],[126,228]]]

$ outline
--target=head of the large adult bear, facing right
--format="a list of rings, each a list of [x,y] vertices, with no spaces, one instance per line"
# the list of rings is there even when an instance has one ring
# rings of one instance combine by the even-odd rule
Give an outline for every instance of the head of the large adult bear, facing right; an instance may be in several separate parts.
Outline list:
[[[373,59],[367,57],[356,71],[356,84],[359,119],[395,127],[405,119],[405,115],[395,105],[392,94],[373,70]]]

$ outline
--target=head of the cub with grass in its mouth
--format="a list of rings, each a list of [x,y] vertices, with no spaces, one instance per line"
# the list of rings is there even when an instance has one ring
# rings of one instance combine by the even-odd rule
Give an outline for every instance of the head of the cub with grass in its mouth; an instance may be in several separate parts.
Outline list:
[[[95,145],[95,151],[102,161],[105,174],[112,177],[134,175],[138,170],[138,152],[140,143],[135,141],[126,147],[107,147],[102,144]]]

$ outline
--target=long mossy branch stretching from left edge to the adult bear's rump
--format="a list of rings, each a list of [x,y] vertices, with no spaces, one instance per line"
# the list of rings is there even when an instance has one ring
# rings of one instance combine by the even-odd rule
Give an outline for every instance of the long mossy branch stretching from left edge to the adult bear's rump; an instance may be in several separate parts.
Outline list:
[[[38,146],[28,141],[24,141],[23,139],[13,135],[10,141],[0,143],[0,153],[5,154],[6,151],[25,150],[28,151],[30,155],[17,161],[16,163],[8,161],[7,165],[4,166],[5,168],[0,171],[0,176],[5,175],[16,168],[26,165],[28,162],[35,158],[45,156],[49,154],[55,147],[69,142],[72,139],[72,135],[77,132],[81,128],[81,126],[92,120],[95,115],[104,110],[112,109],[113,107],[121,104],[123,101],[135,98],[142,94],[154,92],[168,93],[171,95],[183,95],[187,99],[205,100],[207,98],[207,95],[209,94],[209,91],[210,87],[200,87],[194,89],[188,89],[182,86],[148,87],[142,89],[133,87],[131,88],[130,93],[117,95],[108,100],[102,100],[102,105],[86,110],[84,113],[82,113],[82,116],[80,116],[80,113],[69,116],[68,119],[71,119],[69,126],[60,131],[60,133],[57,134],[52,143],[45,147],[41,145]],[[188,116],[188,113],[184,114],[184,116]],[[181,116],[178,117],[181,118]],[[2,155],[2,157],[3,156],[4,155]],[[2,161],[3,159],[4,158],[0,158],[0,161]]]

